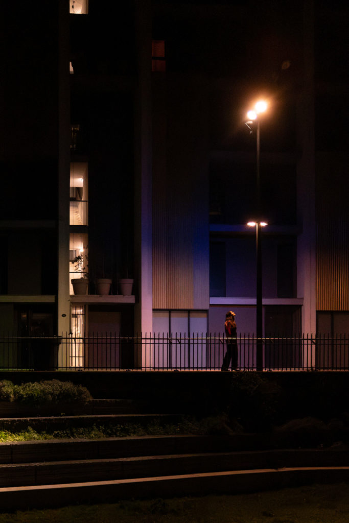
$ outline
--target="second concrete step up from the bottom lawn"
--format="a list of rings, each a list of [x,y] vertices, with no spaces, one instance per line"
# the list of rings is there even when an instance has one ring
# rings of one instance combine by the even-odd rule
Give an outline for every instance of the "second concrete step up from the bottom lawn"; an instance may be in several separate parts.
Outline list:
[[[278,450],[168,454],[128,458],[62,460],[0,465],[0,487],[47,485],[208,472],[349,467],[347,451]]]

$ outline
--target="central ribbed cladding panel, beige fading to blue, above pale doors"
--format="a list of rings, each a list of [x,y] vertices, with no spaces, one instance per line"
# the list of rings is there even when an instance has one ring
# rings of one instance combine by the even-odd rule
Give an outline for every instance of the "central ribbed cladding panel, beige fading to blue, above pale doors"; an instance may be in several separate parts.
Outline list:
[[[154,78],[153,308],[208,308],[201,103],[194,103],[192,93],[186,96],[184,86],[161,82]]]

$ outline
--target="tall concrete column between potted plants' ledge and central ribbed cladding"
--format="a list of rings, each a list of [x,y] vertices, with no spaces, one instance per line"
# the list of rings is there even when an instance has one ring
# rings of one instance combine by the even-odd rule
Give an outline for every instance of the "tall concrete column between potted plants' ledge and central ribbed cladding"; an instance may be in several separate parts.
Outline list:
[[[138,79],[134,100],[135,190],[134,267],[138,297],[134,311],[135,333],[150,333],[153,324],[152,294],[152,112],[151,112],[151,4],[135,2]]]

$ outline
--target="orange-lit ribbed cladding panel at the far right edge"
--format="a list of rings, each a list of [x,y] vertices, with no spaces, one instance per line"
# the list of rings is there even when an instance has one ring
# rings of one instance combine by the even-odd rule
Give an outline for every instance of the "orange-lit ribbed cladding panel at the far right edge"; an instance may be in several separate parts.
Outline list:
[[[332,160],[332,158],[331,158]],[[317,180],[317,310],[349,310],[349,209],[344,162],[327,157]],[[331,173],[331,181],[329,174]]]

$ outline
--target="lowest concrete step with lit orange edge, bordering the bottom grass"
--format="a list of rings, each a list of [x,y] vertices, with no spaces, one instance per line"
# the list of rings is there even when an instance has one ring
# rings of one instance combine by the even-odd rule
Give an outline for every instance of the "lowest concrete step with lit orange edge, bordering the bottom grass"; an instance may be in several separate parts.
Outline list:
[[[313,483],[348,482],[349,467],[256,469],[164,475],[110,481],[0,488],[2,511],[130,498],[241,494]]]

